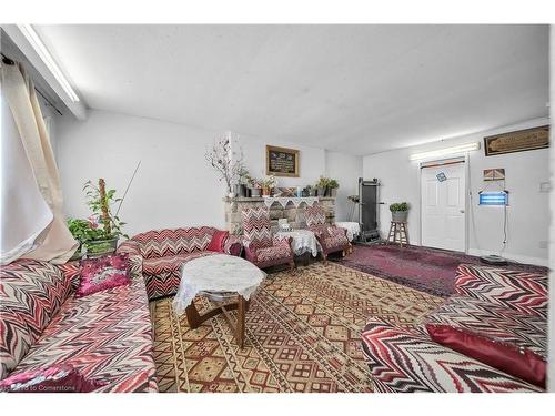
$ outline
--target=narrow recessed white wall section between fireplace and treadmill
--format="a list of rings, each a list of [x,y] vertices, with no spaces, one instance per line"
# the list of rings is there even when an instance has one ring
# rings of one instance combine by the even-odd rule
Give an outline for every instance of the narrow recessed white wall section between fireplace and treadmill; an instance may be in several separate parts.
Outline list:
[[[335,220],[347,221],[352,207],[347,196],[359,194],[359,177],[362,177],[362,158],[331,151],[325,152],[325,155],[326,176],[334,177],[340,183],[335,201]]]

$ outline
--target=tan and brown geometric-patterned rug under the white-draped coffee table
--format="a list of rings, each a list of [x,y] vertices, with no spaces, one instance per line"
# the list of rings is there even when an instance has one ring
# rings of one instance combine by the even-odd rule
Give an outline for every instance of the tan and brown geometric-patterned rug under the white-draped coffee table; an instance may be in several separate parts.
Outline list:
[[[208,308],[204,297],[195,300]],[[360,334],[370,316],[413,327],[444,301],[315,263],[269,275],[251,298],[245,348],[220,315],[191,329],[171,298],[151,303],[160,392],[371,392]],[[233,314],[234,313],[230,313]]]

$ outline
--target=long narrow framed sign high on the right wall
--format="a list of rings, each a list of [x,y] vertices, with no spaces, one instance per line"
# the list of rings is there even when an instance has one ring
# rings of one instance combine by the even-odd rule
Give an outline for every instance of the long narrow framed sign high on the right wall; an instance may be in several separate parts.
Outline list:
[[[486,156],[545,149],[548,146],[549,125],[484,138],[484,152]]]

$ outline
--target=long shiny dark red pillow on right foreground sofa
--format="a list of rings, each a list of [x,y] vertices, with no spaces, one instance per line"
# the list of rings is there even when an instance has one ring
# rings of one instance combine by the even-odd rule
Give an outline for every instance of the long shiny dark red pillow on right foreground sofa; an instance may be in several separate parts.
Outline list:
[[[448,325],[426,324],[430,337],[484,364],[545,388],[547,363],[529,349],[500,343]]]

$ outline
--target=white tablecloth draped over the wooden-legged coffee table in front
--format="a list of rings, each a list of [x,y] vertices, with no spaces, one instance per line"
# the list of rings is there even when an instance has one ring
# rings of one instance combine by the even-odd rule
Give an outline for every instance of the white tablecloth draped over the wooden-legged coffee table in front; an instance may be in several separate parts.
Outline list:
[[[249,300],[265,276],[251,262],[232,255],[216,254],[191,260],[181,268],[173,310],[181,315],[202,291],[234,292]]]

